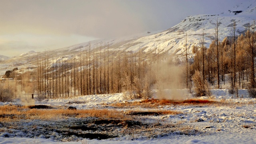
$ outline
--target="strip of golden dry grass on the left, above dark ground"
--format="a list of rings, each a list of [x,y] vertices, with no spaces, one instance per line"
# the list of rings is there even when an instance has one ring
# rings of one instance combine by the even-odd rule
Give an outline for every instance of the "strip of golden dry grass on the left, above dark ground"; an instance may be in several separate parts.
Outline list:
[[[98,117],[104,119],[130,119],[129,116],[117,110],[88,109],[88,110],[67,110],[67,109],[28,109],[24,106],[0,106],[0,121],[15,121],[19,119],[30,120],[58,120],[60,118],[85,118]]]

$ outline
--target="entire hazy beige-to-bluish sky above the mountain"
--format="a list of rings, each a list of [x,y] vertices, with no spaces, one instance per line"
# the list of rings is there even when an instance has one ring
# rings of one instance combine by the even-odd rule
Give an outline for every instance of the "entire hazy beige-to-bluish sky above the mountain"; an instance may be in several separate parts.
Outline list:
[[[0,55],[166,30],[243,0],[0,0]]]

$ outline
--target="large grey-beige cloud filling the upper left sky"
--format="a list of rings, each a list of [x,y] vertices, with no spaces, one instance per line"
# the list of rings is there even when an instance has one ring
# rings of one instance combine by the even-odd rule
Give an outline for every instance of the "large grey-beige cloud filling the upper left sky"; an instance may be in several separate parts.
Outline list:
[[[106,38],[144,29],[140,18],[116,0],[3,0],[0,32],[80,34]]]

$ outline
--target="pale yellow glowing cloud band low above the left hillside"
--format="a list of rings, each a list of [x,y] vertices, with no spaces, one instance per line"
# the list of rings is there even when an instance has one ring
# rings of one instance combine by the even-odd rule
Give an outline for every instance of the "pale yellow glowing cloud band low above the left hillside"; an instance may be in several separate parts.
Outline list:
[[[0,52],[4,56],[16,56],[34,50],[36,52],[63,48],[96,38],[72,34],[70,36],[16,34],[0,36]]]

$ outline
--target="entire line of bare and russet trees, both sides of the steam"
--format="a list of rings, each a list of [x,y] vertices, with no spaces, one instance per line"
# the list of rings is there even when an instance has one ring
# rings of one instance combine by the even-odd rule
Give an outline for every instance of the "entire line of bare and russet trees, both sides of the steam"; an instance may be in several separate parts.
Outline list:
[[[186,69],[181,72],[182,80],[176,82],[179,88],[194,88],[197,96],[210,96],[210,85],[222,88],[226,80],[230,93],[238,96],[238,88],[247,88],[250,96],[255,97],[255,21],[240,35],[234,22],[230,36],[223,40],[220,40],[219,26],[217,20],[209,48],[206,48],[204,30],[199,46],[188,44],[186,34],[182,63],[159,48],[126,52],[111,50],[108,44],[92,49],[89,43],[80,48],[79,54],[69,57],[50,58],[47,52],[38,53],[35,91],[44,98],[116,92],[126,92],[129,98],[151,97],[152,89],[160,88],[158,83],[172,81],[172,76],[160,77],[157,72],[162,63],[167,63],[167,68],[171,63]],[[189,58],[190,49],[193,60]]]

